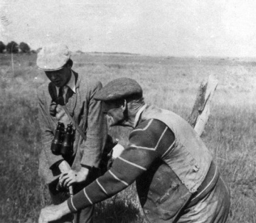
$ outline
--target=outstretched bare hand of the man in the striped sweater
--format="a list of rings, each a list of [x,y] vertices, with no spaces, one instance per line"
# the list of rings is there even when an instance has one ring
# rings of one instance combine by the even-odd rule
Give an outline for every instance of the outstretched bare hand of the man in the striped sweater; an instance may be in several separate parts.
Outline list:
[[[58,220],[65,214],[69,214],[70,209],[68,208],[68,202],[63,202],[60,205],[50,205],[44,207],[41,210],[38,223],[48,223],[54,220]]]

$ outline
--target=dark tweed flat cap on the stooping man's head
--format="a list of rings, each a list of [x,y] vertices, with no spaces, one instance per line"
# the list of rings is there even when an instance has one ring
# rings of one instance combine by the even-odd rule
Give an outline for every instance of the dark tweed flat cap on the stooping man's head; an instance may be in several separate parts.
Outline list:
[[[95,99],[100,101],[113,101],[126,98],[142,97],[142,87],[127,77],[117,78],[107,83],[95,94]]]

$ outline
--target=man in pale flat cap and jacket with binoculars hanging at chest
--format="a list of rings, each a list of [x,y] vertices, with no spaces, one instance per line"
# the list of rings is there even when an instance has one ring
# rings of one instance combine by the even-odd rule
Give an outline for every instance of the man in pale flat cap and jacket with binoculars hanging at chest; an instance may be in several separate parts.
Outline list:
[[[69,197],[66,187],[59,182],[61,173],[65,175],[66,182],[74,193],[98,176],[95,175],[95,170],[100,165],[107,124],[102,114],[101,102],[93,97],[102,89],[102,84],[88,80],[85,74],[78,75],[71,69],[73,60],[70,59],[70,50],[65,45],[42,48],[36,63],[50,80],[38,89],[42,144],[39,175],[48,184],[53,204],[58,205]],[[68,141],[73,146],[66,153],[53,153],[51,150],[55,136],[58,135],[58,124],[63,126],[62,134],[67,126],[71,126],[74,135]],[[60,135],[57,138],[58,143],[54,145],[62,143],[60,147],[63,148],[63,139]],[[68,214],[56,222],[92,222],[92,212],[93,207],[90,206],[75,214],[75,217]]]

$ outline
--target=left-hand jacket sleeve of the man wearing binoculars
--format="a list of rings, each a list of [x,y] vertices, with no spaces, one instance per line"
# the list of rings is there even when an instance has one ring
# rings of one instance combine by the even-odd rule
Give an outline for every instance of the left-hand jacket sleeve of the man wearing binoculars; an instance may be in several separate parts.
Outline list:
[[[55,168],[55,164],[63,160],[62,156],[55,156],[50,151],[50,145],[54,134],[50,126],[50,114],[47,111],[46,96],[42,90],[38,90],[38,121],[41,129],[41,146],[46,154],[46,160],[50,169]]]

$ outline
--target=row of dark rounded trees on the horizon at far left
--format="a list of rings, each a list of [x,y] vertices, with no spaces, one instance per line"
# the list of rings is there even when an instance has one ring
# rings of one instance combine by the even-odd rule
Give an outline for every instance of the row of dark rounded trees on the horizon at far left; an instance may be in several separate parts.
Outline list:
[[[31,50],[28,43],[21,42],[20,44],[11,41],[6,45],[0,41],[0,53],[37,53],[37,50]]]

